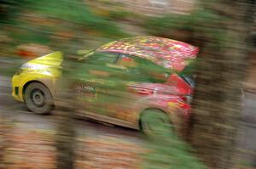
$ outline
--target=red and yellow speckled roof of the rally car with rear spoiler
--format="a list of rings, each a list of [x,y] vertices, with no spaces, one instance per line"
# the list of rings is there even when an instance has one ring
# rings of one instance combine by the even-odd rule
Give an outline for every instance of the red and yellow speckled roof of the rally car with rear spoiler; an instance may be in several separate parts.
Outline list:
[[[183,70],[186,59],[195,59],[198,48],[185,42],[164,38],[139,36],[109,42],[98,51],[131,54],[149,59],[158,65]]]

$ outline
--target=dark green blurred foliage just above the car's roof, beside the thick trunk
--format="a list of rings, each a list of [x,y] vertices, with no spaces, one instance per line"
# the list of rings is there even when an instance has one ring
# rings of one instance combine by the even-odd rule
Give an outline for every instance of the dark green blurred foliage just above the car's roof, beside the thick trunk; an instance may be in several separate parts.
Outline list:
[[[217,42],[223,42],[226,38],[223,23],[226,21],[228,21],[226,18],[219,17],[210,9],[197,8],[188,15],[166,14],[162,17],[148,17],[143,26],[155,36],[172,37],[175,36],[175,31],[187,31],[189,32],[188,36],[193,36],[193,33],[201,33],[210,39],[216,39]],[[219,27],[215,29],[212,25]]]

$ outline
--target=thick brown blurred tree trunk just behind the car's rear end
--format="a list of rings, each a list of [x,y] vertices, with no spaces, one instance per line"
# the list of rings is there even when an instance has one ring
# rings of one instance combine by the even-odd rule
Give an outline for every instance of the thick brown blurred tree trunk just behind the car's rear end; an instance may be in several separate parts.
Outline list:
[[[212,3],[215,2],[215,3]],[[241,115],[241,83],[247,68],[247,1],[211,1],[202,8],[218,16],[198,25],[199,70],[189,138],[212,168],[231,168]],[[207,16],[203,16],[207,17]]]

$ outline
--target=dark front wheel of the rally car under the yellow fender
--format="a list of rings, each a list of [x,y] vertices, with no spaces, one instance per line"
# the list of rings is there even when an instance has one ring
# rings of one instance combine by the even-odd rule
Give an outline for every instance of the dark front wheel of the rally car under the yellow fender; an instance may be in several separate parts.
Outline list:
[[[32,82],[24,94],[26,107],[34,114],[47,115],[54,108],[52,95],[42,83]]]

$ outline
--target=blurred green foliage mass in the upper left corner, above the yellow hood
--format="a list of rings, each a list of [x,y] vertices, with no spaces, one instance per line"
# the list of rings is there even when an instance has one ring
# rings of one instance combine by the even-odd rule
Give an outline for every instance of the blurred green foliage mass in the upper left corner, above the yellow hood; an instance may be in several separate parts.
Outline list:
[[[127,36],[113,21],[92,13],[79,0],[3,0],[0,2],[1,9],[5,11],[2,25],[15,28],[9,36],[18,42],[48,44],[58,31],[69,31],[79,38],[103,36],[116,39]],[[55,20],[55,25],[30,21],[34,17],[50,22]]]

